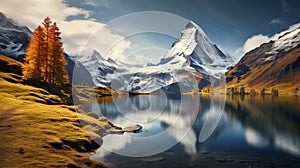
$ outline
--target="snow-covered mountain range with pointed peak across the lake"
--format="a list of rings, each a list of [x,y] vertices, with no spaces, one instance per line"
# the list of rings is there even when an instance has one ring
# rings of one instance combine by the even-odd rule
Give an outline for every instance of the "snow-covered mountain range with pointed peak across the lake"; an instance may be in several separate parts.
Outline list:
[[[193,22],[186,25],[180,37],[156,65],[129,65],[112,59],[106,60],[99,55],[94,52],[88,57],[98,57],[99,61],[81,61],[92,76],[96,72],[96,85],[139,92],[154,92],[160,89],[172,92],[178,90],[178,87],[184,91],[202,88],[209,84],[210,78],[224,75],[226,68],[234,62],[232,57],[212,44],[203,30]],[[197,86],[188,74],[196,78]]]

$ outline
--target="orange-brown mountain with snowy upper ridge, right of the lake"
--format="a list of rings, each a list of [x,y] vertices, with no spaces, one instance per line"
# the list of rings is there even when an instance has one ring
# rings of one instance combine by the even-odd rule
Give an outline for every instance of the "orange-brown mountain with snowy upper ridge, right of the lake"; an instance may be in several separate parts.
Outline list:
[[[226,73],[227,87],[294,92],[300,87],[300,27],[246,53]]]

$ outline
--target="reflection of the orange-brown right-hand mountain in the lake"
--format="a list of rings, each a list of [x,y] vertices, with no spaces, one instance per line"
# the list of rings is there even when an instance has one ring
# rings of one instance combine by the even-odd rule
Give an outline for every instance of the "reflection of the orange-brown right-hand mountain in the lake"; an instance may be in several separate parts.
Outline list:
[[[227,99],[225,110],[245,126],[249,145],[300,155],[298,105],[298,97],[236,96]]]

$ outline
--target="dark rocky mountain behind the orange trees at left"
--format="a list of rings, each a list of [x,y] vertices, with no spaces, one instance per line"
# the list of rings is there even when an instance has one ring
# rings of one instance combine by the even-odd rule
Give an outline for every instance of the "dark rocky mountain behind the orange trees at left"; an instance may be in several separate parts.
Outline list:
[[[31,38],[32,32],[26,26],[19,25],[0,12],[0,54],[19,62],[24,62],[26,48]],[[85,82],[88,85],[94,85],[93,81],[90,80],[90,74],[81,63],[75,64],[67,53],[64,53],[64,56],[70,82],[72,82],[73,69],[76,67],[76,69],[82,71],[82,75],[89,76]],[[75,81],[73,84],[81,84],[81,82],[82,81]]]

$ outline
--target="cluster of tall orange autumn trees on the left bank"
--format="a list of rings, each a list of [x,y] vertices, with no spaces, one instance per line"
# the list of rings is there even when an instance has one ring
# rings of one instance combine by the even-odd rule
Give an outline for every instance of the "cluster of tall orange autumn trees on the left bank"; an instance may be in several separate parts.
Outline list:
[[[46,17],[43,27],[33,32],[23,67],[23,78],[33,79],[55,85],[68,83],[63,43],[56,23]]]

